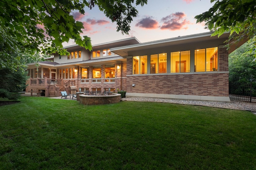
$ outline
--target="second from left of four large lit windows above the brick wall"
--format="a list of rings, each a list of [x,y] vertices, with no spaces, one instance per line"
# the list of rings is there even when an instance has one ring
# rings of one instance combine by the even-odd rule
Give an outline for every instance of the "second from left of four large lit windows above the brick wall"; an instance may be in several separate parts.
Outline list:
[[[166,53],[150,55],[150,74],[166,73]]]

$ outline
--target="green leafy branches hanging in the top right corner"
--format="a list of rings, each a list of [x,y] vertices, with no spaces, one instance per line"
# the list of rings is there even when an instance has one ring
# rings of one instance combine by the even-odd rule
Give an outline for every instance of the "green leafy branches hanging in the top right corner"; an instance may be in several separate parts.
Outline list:
[[[198,16],[196,22],[206,22],[206,27],[214,35],[230,32],[229,45],[243,38],[251,39],[256,35],[255,0],[211,0],[216,3],[207,12]],[[252,47],[250,51],[256,47]],[[256,57],[256,55],[255,55]]]

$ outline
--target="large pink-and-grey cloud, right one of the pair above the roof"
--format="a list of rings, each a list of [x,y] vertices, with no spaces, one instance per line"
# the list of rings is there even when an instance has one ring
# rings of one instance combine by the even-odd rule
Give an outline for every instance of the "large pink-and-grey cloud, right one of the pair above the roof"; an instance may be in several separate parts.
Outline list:
[[[170,29],[171,31],[179,30],[179,29],[187,29],[186,25],[191,24],[190,21],[186,20],[186,15],[183,12],[176,12],[175,14],[170,14],[162,18],[162,22],[164,24],[160,27],[160,29]]]

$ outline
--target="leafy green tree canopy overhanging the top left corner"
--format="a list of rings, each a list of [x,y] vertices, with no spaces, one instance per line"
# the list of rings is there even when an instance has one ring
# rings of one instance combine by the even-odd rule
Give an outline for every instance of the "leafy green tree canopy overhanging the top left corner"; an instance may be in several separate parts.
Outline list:
[[[52,53],[60,51],[63,42],[74,39],[91,50],[90,37],[80,36],[84,27],[74,20],[72,11],[84,14],[86,8],[97,5],[124,34],[130,30],[132,17],[138,14],[135,6],[144,4],[147,0],[0,0],[0,41],[5,39],[8,51],[17,46],[29,52],[44,49]]]

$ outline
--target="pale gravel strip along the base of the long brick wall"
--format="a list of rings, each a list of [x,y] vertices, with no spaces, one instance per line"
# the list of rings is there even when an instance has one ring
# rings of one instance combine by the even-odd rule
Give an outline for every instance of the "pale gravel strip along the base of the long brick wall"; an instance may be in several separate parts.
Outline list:
[[[146,98],[146,97],[126,97],[122,101],[136,101],[136,102],[161,102],[161,103],[174,103],[174,104],[189,104],[197,106],[219,107],[225,109],[247,110],[256,112],[256,103],[250,102],[214,102],[214,101],[199,101],[199,100],[175,100],[166,98]]]

